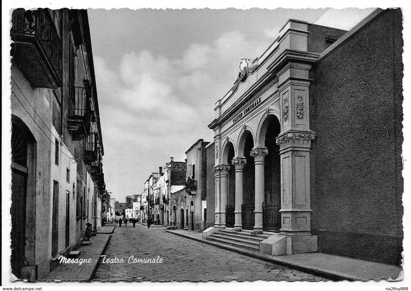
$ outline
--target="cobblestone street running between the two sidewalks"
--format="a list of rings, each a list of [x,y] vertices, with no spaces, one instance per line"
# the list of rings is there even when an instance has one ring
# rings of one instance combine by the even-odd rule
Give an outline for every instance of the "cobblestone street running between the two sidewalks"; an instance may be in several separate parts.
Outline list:
[[[123,263],[103,263],[95,274],[97,281],[321,281],[311,274],[292,270],[248,256],[226,251],[166,233],[165,228],[137,224],[116,226],[104,253],[106,260],[123,259]],[[163,263],[128,263],[129,257],[152,259]]]

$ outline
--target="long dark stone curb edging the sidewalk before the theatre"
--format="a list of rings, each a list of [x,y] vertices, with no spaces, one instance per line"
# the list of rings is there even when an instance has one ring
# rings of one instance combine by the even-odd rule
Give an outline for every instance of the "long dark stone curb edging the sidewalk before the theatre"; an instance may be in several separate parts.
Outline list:
[[[211,241],[208,241],[208,240],[193,238],[193,237],[184,235],[182,233],[175,233],[175,232],[169,231],[169,230],[166,230],[166,232],[174,234],[176,236],[181,236],[183,238],[188,238],[190,240],[195,240],[195,241],[198,241],[200,243],[205,243],[205,244],[208,244],[208,245],[212,245],[214,247],[219,247],[221,249],[225,249],[225,250],[228,250],[228,251],[231,251],[231,252],[236,252],[236,253],[242,254],[244,256],[250,256],[252,258],[259,259],[259,260],[262,260],[262,261],[267,261],[267,262],[270,262],[270,263],[275,263],[277,265],[290,267],[290,268],[293,268],[293,269],[296,269],[296,270],[303,271],[305,273],[310,273],[310,274],[313,274],[313,275],[319,275],[321,277],[325,277],[326,279],[330,279],[332,281],[343,281],[343,280],[364,281],[363,279],[360,279],[360,278],[355,277],[355,276],[349,276],[349,275],[346,275],[346,274],[342,274],[342,273],[338,273],[338,272],[332,272],[332,271],[329,271],[329,270],[312,268],[312,267],[308,267],[308,266],[305,266],[305,265],[302,265],[302,264],[285,261],[285,260],[282,260],[282,259],[275,259],[274,256],[267,256],[267,255],[261,255],[261,254],[258,254],[258,253],[251,253],[251,252],[247,252],[244,249],[240,249],[238,247],[231,247],[231,246],[228,246],[228,245],[223,245],[223,244],[211,242]]]

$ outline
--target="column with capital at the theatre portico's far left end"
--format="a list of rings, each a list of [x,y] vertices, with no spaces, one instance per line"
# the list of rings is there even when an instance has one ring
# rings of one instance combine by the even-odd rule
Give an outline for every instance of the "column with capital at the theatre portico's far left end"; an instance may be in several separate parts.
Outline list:
[[[229,165],[217,165],[212,169],[215,178],[215,222],[214,226],[226,227],[226,205],[228,193]]]

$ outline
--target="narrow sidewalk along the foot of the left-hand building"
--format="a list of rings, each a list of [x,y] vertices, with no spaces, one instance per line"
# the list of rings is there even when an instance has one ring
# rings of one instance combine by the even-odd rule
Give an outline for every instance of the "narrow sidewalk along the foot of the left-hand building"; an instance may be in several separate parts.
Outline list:
[[[103,226],[103,228],[109,226]],[[114,229],[114,226],[111,226]],[[113,230],[111,230],[113,231]],[[94,276],[94,273],[99,266],[100,256],[103,254],[106,246],[109,243],[111,234],[97,233],[97,236],[90,238],[91,244],[88,246],[79,247],[81,255],[79,259],[90,259],[90,263],[65,263],[59,264],[54,270],[50,272],[46,277],[39,279],[39,281],[78,281],[88,282]]]

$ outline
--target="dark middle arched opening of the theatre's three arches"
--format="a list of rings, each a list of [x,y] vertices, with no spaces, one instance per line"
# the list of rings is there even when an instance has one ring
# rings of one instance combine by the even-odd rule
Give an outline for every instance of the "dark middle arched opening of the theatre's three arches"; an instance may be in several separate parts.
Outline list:
[[[242,228],[254,228],[254,195],[255,195],[255,169],[254,157],[250,155],[254,148],[254,140],[251,132],[245,131],[243,134],[244,150],[243,155],[247,163],[243,168],[243,202],[241,206]]]

